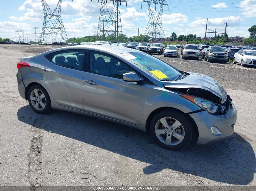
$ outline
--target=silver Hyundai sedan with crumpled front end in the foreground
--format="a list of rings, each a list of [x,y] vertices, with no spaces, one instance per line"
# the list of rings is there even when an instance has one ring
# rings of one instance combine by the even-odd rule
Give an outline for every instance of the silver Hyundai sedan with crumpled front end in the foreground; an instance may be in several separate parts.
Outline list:
[[[32,110],[85,114],[149,132],[178,150],[230,137],[237,111],[213,78],[118,46],[68,46],[22,58],[18,91]]]

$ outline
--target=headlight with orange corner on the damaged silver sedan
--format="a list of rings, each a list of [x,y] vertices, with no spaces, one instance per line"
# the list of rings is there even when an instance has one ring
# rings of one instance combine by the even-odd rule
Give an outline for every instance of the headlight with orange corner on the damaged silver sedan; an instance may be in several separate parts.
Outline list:
[[[217,105],[215,103],[212,103],[209,100],[203,99],[201,97],[195,97],[192,95],[188,95],[188,94],[181,94],[181,97],[184,97],[190,101],[192,101],[193,103],[195,103],[196,105],[198,105],[199,107],[201,107],[202,109],[204,109],[205,111],[207,111],[208,113],[214,114],[217,113],[218,111],[223,112],[225,107],[222,105]]]

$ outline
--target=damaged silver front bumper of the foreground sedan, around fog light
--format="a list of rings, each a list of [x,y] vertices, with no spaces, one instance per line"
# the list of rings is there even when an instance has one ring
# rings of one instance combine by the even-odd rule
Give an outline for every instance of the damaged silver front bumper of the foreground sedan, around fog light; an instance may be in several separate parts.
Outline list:
[[[218,142],[233,135],[237,110],[231,100],[227,102],[223,115],[212,115],[207,111],[189,114],[198,127],[198,144]],[[211,127],[217,128],[221,134],[214,135]]]

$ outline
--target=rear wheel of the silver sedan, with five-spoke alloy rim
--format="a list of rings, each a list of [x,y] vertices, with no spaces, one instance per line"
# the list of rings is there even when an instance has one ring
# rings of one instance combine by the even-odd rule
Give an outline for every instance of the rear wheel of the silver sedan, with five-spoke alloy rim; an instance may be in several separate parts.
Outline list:
[[[51,109],[49,94],[41,85],[36,84],[28,90],[28,103],[33,111],[39,114],[48,113]]]

